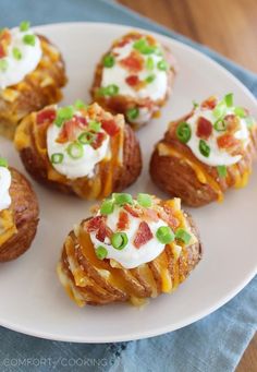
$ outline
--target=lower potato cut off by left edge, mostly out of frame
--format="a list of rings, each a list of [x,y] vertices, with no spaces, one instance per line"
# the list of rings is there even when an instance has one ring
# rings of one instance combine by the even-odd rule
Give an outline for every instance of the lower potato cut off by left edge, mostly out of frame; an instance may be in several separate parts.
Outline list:
[[[23,254],[37,231],[38,203],[29,182],[0,158],[0,262]]]

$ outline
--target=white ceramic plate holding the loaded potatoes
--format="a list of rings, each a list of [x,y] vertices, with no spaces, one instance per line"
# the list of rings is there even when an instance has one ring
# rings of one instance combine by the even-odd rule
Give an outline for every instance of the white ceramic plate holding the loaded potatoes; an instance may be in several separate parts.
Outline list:
[[[69,84],[63,104],[89,100],[94,69],[111,41],[131,28],[120,25],[73,23],[37,27],[63,52]],[[180,64],[174,93],[162,110],[137,134],[144,171],[127,191],[162,194],[150,181],[149,157],[167,123],[187,112],[192,100],[234,92],[235,101],[257,117],[255,98],[228,71],[198,51],[156,35],[170,47]],[[10,142],[0,151],[21,171],[24,168]],[[256,168],[256,167],[255,167]],[[231,191],[223,204],[192,209],[205,245],[204,259],[191,277],[171,296],[150,301],[143,310],[131,305],[77,308],[56,275],[64,237],[89,215],[91,203],[45,189],[33,182],[40,202],[40,225],[30,250],[0,265],[0,324],[34,336],[83,343],[131,340],[159,335],[191,324],[235,296],[257,272],[257,169],[247,188]],[[25,172],[25,171],[24,171]]]

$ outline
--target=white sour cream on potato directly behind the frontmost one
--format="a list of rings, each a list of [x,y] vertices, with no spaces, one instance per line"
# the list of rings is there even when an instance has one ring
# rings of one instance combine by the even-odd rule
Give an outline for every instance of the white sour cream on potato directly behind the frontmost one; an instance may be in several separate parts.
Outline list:
[[[75,179],[79,177],[93,177],[95,166],[103,158],[109,156],[110,136],[107,135],[101,146],[96,149],[88,144],[83,144],[83,156],[78,159],[74,159],[66,152],[66,148],[71,144],[71,142],[56,142],[61,130],[62,129],[57,127],[56,124],[51,124],[47,131],[47,149],[49,159],[51,159],[51,156],[53,154],[63,155],[62,163],[52,164],[52,167],[59,173],[66,176],[66,178],[69,179]]]

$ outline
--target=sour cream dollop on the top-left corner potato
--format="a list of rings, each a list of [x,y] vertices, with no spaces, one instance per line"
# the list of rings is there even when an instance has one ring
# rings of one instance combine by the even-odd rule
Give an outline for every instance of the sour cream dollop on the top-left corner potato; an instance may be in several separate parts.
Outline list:
[[[11,44],[8,46],[8,55],[3,59],[8,63],[5,71],[0,70],[0,88],[4,89],[20,83],[28,73],[33,72],[41,59],[40,40],[35,36],[35,46],[27,45],[23,41],[25,35],[34,35],[32,29],[21,32],[19,28],[13,28],[11,33]],[[21,59],[15,59],[13,49],[17,48],[21,53]]]

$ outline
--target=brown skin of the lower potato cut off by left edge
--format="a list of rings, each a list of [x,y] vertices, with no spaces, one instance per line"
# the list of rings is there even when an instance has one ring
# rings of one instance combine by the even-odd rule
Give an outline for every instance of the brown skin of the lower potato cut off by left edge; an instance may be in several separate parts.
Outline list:
[[[10,170],[12,175],[11,208],[17,232],[0,247],[0,262],[14,260],[26,252],[36,235],[39,220],[37,196],[30,183],[14,168]]]

